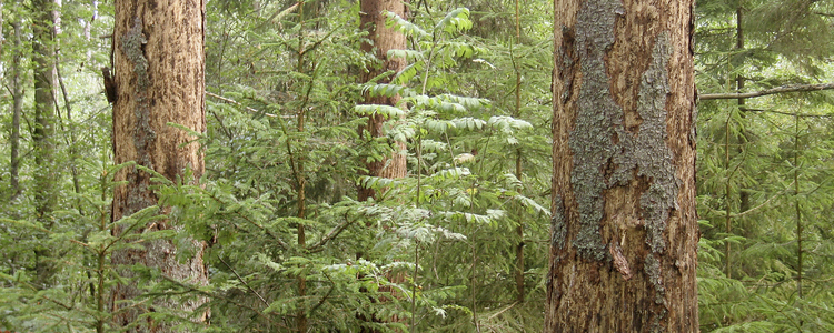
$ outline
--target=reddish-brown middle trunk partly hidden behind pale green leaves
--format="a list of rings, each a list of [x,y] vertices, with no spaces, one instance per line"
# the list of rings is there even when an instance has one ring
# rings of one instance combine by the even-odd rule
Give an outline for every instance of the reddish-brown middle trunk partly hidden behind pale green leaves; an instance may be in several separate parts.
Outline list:
[[[376,58],[379,59],[380,64],[377,67],[367,68],[366,72],[361,75],[363,82],[368,82],[370,79],[386,72],[394,71],[399,72],[406,67],[406,60],[401,58],[388,58],[388,50],[403,50],[406,48],[406,38],[403,33],[386,28],[385,20],[386,16],[384,11],[389,11],[406,18],[406,4],[403,0],[361,0],[360,1],[359,19],[363,29],[368,31],[368,40],[371,42],[363,42],[361,50],[364,52],[374,52]],[[390,83],[390,79],[394,74],[383,78],[377,83]],[[387,104],[396,105],[399,101],[399,97],[365,97],[366,104]],[[368,118],[368,124],[359,130],[359,133],[368,131],[371,138],[379,138],[385,135],[383,133],[383,124],[385,118],[379,114],[374,114]],[[395,150],[391,155],[381,161],[366,162],[368,169],[368,175],[383,176],[383,178],[404,178],[406,176],[406,155],[401,154],[400,151],[406,149],[405,143],[396,142],[394,144]],[[365,201],[368,198],[375,198],[376,193],[373,189],[360,188],[359,189],[359,201]]]

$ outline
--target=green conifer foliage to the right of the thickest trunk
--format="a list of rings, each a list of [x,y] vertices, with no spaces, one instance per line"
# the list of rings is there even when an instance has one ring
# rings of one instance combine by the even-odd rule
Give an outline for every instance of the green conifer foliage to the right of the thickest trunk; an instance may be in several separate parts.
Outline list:
[[[832,4],[699,1],[702,95],[830,82]],[[699,104],[702,330],[832,330],[830,102],[795,92]]]

